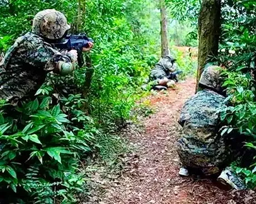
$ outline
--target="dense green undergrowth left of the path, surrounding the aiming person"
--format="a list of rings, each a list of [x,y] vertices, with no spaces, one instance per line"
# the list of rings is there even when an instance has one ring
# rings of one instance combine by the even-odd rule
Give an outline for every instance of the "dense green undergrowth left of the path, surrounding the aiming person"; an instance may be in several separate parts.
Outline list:
[[[160,52],[159,11],[141,0],[0,3],[3,52],[47,8],[65,13],[71,32],[87,33],[95,41],[85,56],[87,67],[66,78],[48,75],[35,100],[15,110],[1,105],[1,195],[20,203],[77,203],[76,195],[86,193],[83,160],[92,152],[115,160],[127,151],[112,133],[146,94],[140,86]],[[176,55],[184,73],[191,73],[191,56],[179,50]]]

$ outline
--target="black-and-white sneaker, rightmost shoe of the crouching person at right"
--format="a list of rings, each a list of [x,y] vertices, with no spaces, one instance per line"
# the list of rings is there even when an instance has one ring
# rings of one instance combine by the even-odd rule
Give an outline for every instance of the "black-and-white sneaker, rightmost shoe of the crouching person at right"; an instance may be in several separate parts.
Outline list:
[[[217,181],[222,183],[225,186],[230,186],[235,190],[245,190],[246,187],[243,184],[243,181],[235,176],[230,170],[223,170],[220,176],[217,178]]]

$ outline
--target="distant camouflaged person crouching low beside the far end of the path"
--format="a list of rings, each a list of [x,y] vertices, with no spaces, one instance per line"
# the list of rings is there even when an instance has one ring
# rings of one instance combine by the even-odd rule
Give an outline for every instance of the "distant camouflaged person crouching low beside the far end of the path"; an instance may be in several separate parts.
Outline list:
[[[155,89],[167,89],[174,86],[175,81],[170,79],[170,75],[175,72],[177,67],[176,59],[170,55],[160,59],[155,68],[150,72],[150,80],[155,82]]]

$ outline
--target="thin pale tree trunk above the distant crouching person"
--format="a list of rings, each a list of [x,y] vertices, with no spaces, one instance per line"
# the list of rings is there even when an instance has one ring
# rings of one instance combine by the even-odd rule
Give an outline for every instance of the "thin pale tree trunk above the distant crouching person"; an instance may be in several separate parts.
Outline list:
[[[170,54],[169,39],[168,39],[168,18],[166,14],[165,1],[160,0],[161,11],[161,44],[162,44],[162,57]]]

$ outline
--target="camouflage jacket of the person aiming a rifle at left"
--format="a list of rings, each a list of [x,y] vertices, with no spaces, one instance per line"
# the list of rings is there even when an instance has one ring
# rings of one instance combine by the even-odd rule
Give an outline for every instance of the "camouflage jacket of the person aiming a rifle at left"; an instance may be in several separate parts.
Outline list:
[[[36,34],[19,37],[0,63],[0,99],[15,104],[35,95],[47,73],[55,70],[60,61],[71,62],[71,57],[53,49]]]

